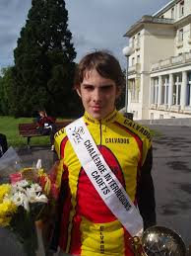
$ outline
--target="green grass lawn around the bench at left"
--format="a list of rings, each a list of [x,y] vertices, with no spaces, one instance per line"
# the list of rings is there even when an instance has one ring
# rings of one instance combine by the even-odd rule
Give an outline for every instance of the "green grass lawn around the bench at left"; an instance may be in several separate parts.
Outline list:
[[[18,124],[32,122],[32,118],[15,119],[13,117],[0,116],[0,133],[3,133],[7,136],[9,146],[20,147],[27,145],[27,138],[21,137],[19,134]],[[31,138],[32,145],[47,145],[49,143],[49,136]]]

